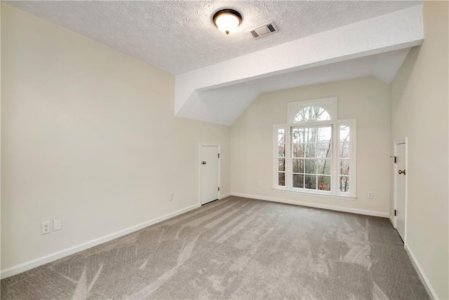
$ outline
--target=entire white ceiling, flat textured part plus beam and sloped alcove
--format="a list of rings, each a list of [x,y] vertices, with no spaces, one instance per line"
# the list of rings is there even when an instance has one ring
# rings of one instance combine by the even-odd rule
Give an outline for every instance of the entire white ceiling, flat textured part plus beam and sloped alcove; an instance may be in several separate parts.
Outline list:
[[[175,114],[231,125],[259,93],[360,76],[389,83],[422,43],[422,1],[8,1],[176,75]],[[220,8],[243,15],[223,34]],[[279,32],[248,30],[274,22]]]

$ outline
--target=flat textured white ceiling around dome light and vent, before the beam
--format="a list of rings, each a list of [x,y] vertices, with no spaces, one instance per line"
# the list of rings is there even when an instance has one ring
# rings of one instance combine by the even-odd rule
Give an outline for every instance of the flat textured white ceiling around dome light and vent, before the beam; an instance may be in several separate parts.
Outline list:
[[[8,1],[111,48],[182,74],[422,1]],[[211,16],[220,8],[243,15],[229,36]],[[248,30],[273,21],[279,32],[253,39]],[[279,55],[274,53],[273,55]]]

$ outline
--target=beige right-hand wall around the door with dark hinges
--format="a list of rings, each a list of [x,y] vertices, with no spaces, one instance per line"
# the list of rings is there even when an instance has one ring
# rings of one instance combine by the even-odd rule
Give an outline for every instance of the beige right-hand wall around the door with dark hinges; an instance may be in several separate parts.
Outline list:
[[[449,299],[448,34],[448,2],[426,1],[424,43],[391,83],[391,147],[408,137],[406,244],[440,299]]]

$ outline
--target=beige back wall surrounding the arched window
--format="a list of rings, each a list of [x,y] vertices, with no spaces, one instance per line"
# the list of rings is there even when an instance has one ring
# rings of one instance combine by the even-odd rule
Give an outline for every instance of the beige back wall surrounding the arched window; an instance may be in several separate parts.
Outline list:
[[[357,119],[358,198],[340,200],[273,190],[273,124],[286,123],[288,102],[332,96],[338,97],[338,118]],[[232,125],[232,192],[387,214],[389,100],[389,86],[374,77],[260,95]],[[368,191],[374,191],[373,200],[368,200]]]

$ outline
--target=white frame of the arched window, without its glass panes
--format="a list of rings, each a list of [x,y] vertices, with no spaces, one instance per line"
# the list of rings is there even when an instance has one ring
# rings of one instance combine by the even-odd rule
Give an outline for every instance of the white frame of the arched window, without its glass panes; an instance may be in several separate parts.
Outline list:
[[[331,120],[330,121],[306,121],[300,123],[294,123],[293,119],[295,118],[298,111],[303,109],[304,107],[309,106],[319,106],[323,107],[328,111]],[[328,97],[321,98],[316,100],[303,100],[297,102],[290,102],[287,105],[287,121],[285,124],[275,124],[273,125],[273,136],[274,136],[274,148],[273,148],[273,189],[284,191],[288,193],[300,193],[307,194],[309,196],[321,196],[325,198],[337,198],[344,200],[355,200],[356,199],[356,136],[357,136],[357,128],[356,128],[356,119],[345,119],[345,120],[337,120],[337,97]],[[331,160],[331,168],[330,168],[330,191],[319,191],[319,190],[309,190],[309,189],[299,189],[293,188],[293,175],[292,175],[292,144],[291,144],[291,136],[292,136],[292,128],[301,128],[301,127],[313,127],[313,126],[324,126],[331,125],[332,126],[332,160]],[[349,151],[351,153],[351,157],[349,158],[349,191],[341,192],[339,181],[340,181],[340,125],[349,125],[350,127],[350,147]],[[278,160],[278,130],[284,129],[286,132],[286,154],[285,154],[285,171],[286,171],[286,181],[285,186],[279,186],[278,172],[279,172],[279,160]]]

